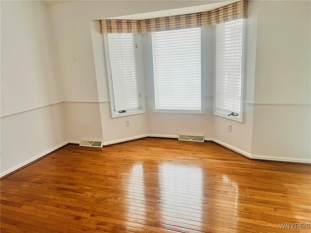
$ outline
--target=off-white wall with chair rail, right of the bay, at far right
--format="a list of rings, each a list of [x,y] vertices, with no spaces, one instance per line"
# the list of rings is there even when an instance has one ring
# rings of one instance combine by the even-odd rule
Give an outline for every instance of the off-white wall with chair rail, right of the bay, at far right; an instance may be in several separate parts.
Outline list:
[[[311,162],[311,2],[256,1],[254,158]]]

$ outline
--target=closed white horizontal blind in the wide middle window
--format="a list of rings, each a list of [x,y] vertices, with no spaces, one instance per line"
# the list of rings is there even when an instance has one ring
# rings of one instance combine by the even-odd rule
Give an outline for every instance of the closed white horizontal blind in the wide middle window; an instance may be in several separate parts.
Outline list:
[[[201,111],[200,32],[152,33],[156,110]]]

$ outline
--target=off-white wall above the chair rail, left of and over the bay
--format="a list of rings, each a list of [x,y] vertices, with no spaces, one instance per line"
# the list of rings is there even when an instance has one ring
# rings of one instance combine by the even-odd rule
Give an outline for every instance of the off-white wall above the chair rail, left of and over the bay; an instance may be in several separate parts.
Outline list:
[[[108,98],[101,91],[97,92],[96,75],[101,73],[98,73],[98,68],[94,68],[92,39],[96,37],[99,28],[91,20],[199,5],[204,2],[207,1],[161,1],[161,4],[158,1],[69,1],[50,5],[64,100],[105,101]],[[100,40],[98,37],[96,39]],[[96,49],[97,47],[94,48]]]

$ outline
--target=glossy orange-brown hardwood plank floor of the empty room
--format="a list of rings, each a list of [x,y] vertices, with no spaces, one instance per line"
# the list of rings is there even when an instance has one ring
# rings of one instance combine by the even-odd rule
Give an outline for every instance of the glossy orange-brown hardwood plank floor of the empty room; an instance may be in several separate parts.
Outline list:
[[[68,145],[2,179],[0,192],[1,233],[311,232],[310,165],[212,142]]]

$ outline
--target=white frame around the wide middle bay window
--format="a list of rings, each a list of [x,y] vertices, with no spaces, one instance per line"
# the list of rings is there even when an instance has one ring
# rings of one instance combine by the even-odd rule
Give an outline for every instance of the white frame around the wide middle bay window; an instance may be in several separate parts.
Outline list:
[[[205,43],[203,40],[205,39],[205,35],[202,33],[202,27],[200,28],[200,56],[201,56],[201,110],[175,110],[175,109],[156,109],[155,107],[155,70],[154,70],[154,49],[153,49],[153,37],[152,33],[150,34],[150,42],[151,42],[151,52],[152,52],[152,98],[153,98],[153,113],[171,113],[171,114],[205,114]]]

